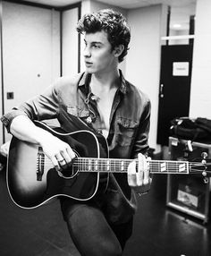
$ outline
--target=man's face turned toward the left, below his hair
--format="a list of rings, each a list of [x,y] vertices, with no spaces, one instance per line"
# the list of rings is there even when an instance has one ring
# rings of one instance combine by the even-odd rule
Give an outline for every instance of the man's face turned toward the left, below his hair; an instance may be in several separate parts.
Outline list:
[[[106,73],[114,70],[117,57],[107,39],[107,33],[100,31],[85,34],[84,61],[88,73]]]

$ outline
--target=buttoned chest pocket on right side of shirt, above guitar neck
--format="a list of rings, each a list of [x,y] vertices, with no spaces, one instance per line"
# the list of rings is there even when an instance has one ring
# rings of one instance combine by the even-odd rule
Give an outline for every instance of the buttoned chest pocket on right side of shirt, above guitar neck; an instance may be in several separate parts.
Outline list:
[[[115,127],[115,141],[122,147],[130,146],[136,136],[138,122],[125,117],[118,117]]]

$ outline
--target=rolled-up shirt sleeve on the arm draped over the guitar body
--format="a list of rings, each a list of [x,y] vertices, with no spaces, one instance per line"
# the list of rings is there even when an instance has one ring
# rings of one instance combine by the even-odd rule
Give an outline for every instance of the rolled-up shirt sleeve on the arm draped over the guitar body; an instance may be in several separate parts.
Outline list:
[[[47,88],[47,90],[35,98],[22,103],[19,107],[13,109],[1,117],[7,132],[10,132],[10,126],[13,118],[18,115],[26,115],[31,120],[45,120],[55,118],[58,114],[58,92],[57,83]]]

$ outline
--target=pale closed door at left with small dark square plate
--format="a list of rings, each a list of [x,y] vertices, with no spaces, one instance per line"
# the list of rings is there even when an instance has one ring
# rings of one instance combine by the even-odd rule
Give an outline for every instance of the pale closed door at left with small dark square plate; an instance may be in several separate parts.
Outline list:
[[[59,13],[3,4],[4,113],[41,93],[60,74]],[[10,136],[4,131],[4,141]]]

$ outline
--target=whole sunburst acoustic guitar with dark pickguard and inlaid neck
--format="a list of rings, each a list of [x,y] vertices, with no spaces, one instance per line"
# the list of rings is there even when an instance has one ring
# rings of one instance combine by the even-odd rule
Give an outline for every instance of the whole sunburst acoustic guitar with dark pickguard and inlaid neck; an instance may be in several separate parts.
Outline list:
[[[109,158],[105,138],[87,130],[57,132],[41,122],[36,125],[69,143],[77,158],[63,170],[55,167],[37,144],[13,137],[7,163],[7,187],[15,204],[24,209],[34,209],[58,196],[78,201],[88,201],[97,192],[101,175],[127,173],[131,159]],[[139,165],[138,160],[135,160]],[[152,174],[202,173],[207,175],[207,163],[148,160]]]

